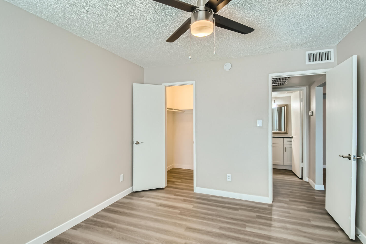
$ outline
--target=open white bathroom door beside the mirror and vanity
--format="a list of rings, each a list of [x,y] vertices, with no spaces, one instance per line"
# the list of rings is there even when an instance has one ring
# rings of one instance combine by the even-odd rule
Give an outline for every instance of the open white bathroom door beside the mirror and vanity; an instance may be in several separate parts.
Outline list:
[[[292,172],[302,178],[302,118],[300,91],[291,95]]]

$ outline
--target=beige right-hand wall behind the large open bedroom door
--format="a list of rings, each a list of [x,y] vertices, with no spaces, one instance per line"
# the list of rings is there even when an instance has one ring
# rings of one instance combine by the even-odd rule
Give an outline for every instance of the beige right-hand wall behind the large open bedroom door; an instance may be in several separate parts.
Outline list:
[[[366,19],[337,45],[337,63],[357,55],[357,155],[366,152]],[[366,234],[366,163],[357,160],[356,226]]]

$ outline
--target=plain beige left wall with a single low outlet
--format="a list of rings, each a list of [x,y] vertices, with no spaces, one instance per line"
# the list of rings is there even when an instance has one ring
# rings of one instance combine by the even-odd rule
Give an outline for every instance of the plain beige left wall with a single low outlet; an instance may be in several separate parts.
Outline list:
[[[0,33],[0,242],[24,244],[132,187],[143,68],[5,1]]]

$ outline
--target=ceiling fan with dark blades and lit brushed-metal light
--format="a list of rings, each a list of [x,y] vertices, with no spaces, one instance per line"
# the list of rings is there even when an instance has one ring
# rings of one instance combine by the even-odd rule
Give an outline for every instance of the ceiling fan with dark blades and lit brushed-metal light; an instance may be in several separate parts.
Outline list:
[[[254,29],[242,25],[234,20],[225,18],[221,15],[214,14],[219,12],[221,8],[225,7],[231,0],[198,0],[197,6],[184,3],[179,0],[153,0],[158,3],[163,3],[174,8],[179,8],[187,12],[191,12],[191,17],[188,18],[174,33],[166,40],[167,42],[174,42],[188,29],[191,29],[192,35],[197,37],[205,37],[212,33],[214,22],[215,26],[227,30],[235,31],[241,34],[251,33]],[[214,19],[214,20],[213,20]]]

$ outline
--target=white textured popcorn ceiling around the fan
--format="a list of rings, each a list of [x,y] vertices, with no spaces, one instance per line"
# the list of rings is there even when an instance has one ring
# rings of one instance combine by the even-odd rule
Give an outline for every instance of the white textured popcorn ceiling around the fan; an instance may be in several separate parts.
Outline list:
[[[366,17],[366,0],[232,0],[218,14],[253,27],[165,42],[190,13],[152,0],[7,0],[142,67],[336,45]],[[185,0],[196,5],[195,0]]]

